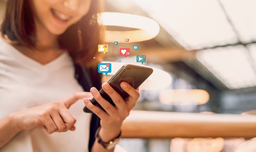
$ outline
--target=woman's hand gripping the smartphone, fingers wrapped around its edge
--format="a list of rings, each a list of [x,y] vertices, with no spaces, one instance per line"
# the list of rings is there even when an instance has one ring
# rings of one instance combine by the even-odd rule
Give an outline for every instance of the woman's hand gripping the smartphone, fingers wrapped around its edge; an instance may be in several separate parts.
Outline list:
[[[95,87],[90,89],[95,100],[101,105],[101,107],[103,107],[104,110],[106,110],[106,112],[93,105],[89,99],[84,99],[86,107],[101,118],[101,130],[99,134],[103,141],[109,141],[118,136],[122,122],[130,114],[130,111],[135,106],[135,103],[139,98],[138,89],[134,89],[126,82],[121,82],[120,85],[121,88],[129,94],[126,99],[123,99],[108,83],[102,84],[103,90],[115,103],[115,107],[106,101]]]

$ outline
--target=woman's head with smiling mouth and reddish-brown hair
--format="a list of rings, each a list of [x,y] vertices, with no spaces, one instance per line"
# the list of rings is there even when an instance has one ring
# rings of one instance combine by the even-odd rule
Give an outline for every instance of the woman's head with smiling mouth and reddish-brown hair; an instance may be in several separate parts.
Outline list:
[[[47,40],[60,35],[59,47],[67,50],[75,62],[83,65],[99,62],[101,57],[93,50],[103,42],[104,27],[95,24],[97,19],[92,18],[102,12],[103,6],[98,1],[101,0],[8,0],[2,35],[16,45],[38,50],[47,47],[45,44],[52,47],[49,46],[52,42]],[[95,56],[98,58],[91,60]]]

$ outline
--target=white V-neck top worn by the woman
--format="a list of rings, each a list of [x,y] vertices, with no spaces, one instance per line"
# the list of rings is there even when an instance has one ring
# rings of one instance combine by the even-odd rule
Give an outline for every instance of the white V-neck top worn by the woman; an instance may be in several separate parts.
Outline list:
[[[0,119],[81,91],[67,52],[41,65],[0,38]],[[75,131],[47,134],[39,128],[24,130],[0,152],[88,152],[91,114],[84,113],[83,107],[82,100],[70,107],[76,118]]]

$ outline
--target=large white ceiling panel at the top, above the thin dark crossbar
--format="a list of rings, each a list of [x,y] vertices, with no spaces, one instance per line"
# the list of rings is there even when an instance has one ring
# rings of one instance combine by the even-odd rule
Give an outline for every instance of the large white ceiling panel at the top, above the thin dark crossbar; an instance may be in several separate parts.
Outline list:
[[[218,0],[134,1],[185,49],[238,42]]]

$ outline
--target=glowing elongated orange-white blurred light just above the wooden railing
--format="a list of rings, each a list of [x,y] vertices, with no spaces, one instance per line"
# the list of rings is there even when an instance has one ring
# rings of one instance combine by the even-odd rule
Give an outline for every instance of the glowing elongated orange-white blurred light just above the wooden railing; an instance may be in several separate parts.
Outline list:
[[[159,95],[159,100],[164,104],[201,105],[209,101],[210,95],[201,89],[169,89]]]

